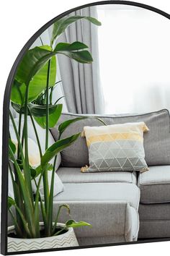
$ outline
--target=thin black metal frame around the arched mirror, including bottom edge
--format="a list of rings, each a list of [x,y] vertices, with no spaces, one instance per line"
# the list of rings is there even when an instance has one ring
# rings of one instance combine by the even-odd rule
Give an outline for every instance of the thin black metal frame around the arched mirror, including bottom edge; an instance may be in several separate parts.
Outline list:
[[[21,254],[21,253],[29,253],[30,251],[24,251],[24,252],[7,252],[7,221],[8,221],[8,209],[7,209],[7,197],[8,197],[8,151],[9,151],[9,102],[10,102],[10,93],[12,89],[12,83],[14,81],[14,76],[17,72],[17,67],[19,65],[19,62],[22,60],[24,54],[26,51],[32,46],[32,43],[40,36],[50,25],[53,24],[56,20],[61,19],[62,17],[65,17],[66,15],[70,14],[71,12],[74,12],[78,9],[82,9],[85,7],[92,7],[95,5],[104,5],[104,4],[124,4],[124,5],[130,5],[134,7],[141,7],[143,9],[148,9],[152,12],[156,12],[158,14],[161,14],[162,16],[166,17],[170,20],[170,15],[166,12],[161,11],[160,9],[156,9],[154,7],[148,6],[146,4],[140,4],[133,1],[97,1],[91,4],[85,4],[80,7],[76,7],[73,9],[68,10],[67,12],[63,12],[62,14],[58,15],[57,17],[53,18],[53,20],[50,20],[47,22],[44,26],[40,28],[32,37],[30,40],[27,41],[27,43],[22,48],[22,51],[20,51],[19,55],[17,56],[17,59],[14,61],[14,64],[12,66],[11,72],[9,73],[8,80],[6,82],[6,89],[4,93],[4,107],[3,107],[3,136],[2,136],[2,176],[1,176],[1,254],[2,255],[14,255],[14,254]],[[63,250],[63,249],[80,249],[80,248],[86,248],[86,247],[104,247],[104,246],[113,246],[113,245],[120,245],[120,244],[138,244],[138,243],[144,243],[144,242],[162,242],[162,241],[169,241],[169,238],[164,239],[147,239],[142,240],[138,242],[123,242],[123,243],[114,243],[114,244],[98,244],[94,246],[80,246],[80,247],[67,247],[67,248],[60,248],[60,249],[40,249],[31,251],[33,252],[49,252],[49,251],[56,251],[56,250]]]

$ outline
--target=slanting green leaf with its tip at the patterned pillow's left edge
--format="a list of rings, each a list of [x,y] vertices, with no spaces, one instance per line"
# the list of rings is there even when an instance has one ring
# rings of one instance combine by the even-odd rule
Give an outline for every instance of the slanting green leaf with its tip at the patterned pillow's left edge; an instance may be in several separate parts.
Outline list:
[[[67,137],[63,140],[58,140],[45,151],[45,154],[41,158],[41,166],[44,167],[55,155],[61,152],[64,148],[68,148],[73,142],[77,140],[80,133]]]

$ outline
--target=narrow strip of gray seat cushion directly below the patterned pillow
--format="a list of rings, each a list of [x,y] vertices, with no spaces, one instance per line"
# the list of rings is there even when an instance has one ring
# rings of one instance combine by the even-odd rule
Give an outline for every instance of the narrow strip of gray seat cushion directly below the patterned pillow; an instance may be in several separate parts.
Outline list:
[[[60,167],[57,171],[63,183],[126,182],[137,183],[136,172],[112,171],[102,173],[81,173],[80,168]],[[106,184],[107,186],[107,184]]]

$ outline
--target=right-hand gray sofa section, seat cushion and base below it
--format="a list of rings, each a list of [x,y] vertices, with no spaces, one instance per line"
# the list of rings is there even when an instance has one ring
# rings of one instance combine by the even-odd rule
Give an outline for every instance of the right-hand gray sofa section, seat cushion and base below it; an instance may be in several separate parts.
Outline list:
[[[170,166],[140,174],[139,238],[170,237]]]

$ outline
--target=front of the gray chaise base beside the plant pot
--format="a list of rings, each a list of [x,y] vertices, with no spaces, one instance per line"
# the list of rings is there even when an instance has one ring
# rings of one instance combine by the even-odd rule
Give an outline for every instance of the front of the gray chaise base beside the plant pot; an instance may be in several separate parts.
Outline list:
[[[59,205],[67,201],[54,202],[54,216]],[[68,218],[84,220],[91,223],[88,226],[75,229],[76,236],[125,236],[125,241],[133,241],[133,235],[138,234],[138,213],[130,207],[128,202],[118,201],[73,201],[69,202],[71,216],[68,217],[66,209],[62,210],[59,221],[65,222]],[[134,209],[134,210],[133,210]],[[134,224],[132,223],[134,220]]]

